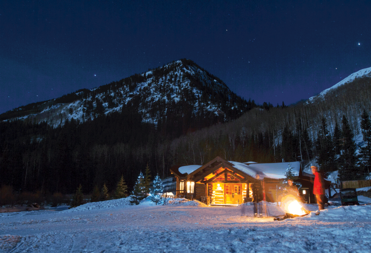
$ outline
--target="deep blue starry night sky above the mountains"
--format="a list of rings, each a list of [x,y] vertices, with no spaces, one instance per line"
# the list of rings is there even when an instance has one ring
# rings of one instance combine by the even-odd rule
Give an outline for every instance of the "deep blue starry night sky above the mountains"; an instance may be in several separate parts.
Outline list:
[[[0,113],[181,58],[275,106],[371,67],[371,1],[306,2],[2,0]]]

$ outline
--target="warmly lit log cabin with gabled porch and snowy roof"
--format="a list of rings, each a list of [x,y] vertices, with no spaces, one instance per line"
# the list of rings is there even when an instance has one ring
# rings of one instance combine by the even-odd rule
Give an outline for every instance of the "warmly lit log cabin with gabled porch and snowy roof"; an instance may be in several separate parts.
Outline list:
[[[202,166],[176,165],[170,172],[176,178],[176,195],[180,198],[196,199],[208,205],[238,205],[252,200],[252,184],[261,184],[266,201],[279,201],[288,166],[299,178],[303,175],[300,162],[239,163],[219,156]],[[308,189],[305,193],[310,198],[311,184],[308,174],[304,174],[302,184]],[[328,184],[329,181],[325,181],[326,187]]]

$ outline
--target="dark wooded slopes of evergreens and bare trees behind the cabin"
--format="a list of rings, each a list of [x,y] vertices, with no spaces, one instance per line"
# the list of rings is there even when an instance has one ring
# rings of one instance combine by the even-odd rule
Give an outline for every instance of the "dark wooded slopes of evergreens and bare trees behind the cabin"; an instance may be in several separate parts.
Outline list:
[[[0,185],[18,192],[73,193],[81,187],[115,189],[122,177],[131,191],[139,172],[170,176],[172,165],[202,165],[215,158],[258,163],[316,163],[340,179],[364,179],[371,166],[371,78],[359,78],[323,101],[250,106],[221,121],[208,114],[168,114],[143,121],[128,103],[83,123],[66,120],[0,123]],[[251,103],[251,101],[249,101]],[[248,102],[246,102],[247,104]],[[355,136],[362,136],[357,147]],[[357,152],[359,150],[359,152]]]

